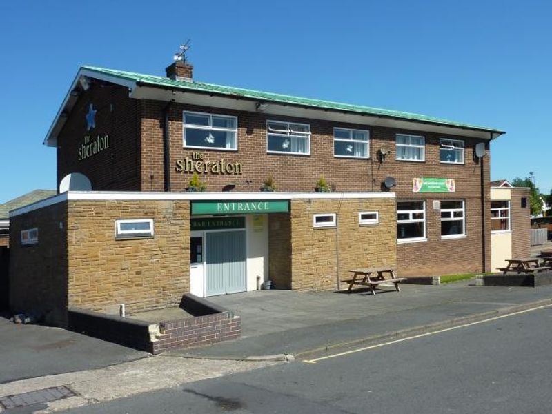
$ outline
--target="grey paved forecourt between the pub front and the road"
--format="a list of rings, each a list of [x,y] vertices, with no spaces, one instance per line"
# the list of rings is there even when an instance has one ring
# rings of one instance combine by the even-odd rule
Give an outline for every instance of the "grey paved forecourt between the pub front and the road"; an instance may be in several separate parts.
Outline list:
[[[242,339],[170,355],[244,358],[313,350],[495,313],[552,298],[552,286],[406,285],[375,296],[266,290],[210,298],[242,316]]]

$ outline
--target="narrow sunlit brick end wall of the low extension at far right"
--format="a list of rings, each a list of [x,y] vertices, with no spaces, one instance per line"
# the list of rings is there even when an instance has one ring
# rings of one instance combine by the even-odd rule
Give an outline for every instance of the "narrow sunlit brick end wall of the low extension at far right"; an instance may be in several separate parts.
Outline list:
[[[510,204],[512,257],[529,257],[531,255],[531,203],[529,196],[529,189],[512,188]],[[527,198],[525,208],[522,208],[522,197]]]

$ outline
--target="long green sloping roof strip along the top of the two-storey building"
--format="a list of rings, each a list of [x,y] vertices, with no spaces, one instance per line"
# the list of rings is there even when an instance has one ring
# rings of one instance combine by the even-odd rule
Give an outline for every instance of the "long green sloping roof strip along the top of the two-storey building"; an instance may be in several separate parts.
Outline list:
[[[386,110],[380,108],[371,108],[369,106],[351,105],[348,103],[339,103],[333,101],[322,101],[319,99],[293,97],[290,95],[282,95],[272,92],[262,92],[258,90],[250,90],[244,88],[235,88],[233,86],[215,85],[213,83],[204,83],[198,81],[176,81],[167,77],[144,75],[135,72],[126,72],[124,70],[114,70],[107,68],[96,68],[94,66],[82,66],[83,69],[98,72],[103,75],[119,77],[136,83],[143,83],[150,86],[160,86],[162,88],[177,88],[182,90],[194,90],[204,93],[216,93],[217,95],[229,95],[232,97],[242,97],[244,99],[258,99],[261,101],[271,101],[284,103],[288,105],[308,106],[324,110],[339,110],[345,112],[356,112],[362,115],[373,115],[377,117],[391,117],[396,119],[406,119],[409,121],[420,121],[428,124],[440,124],[444,126],[454,126],[457,128],[465,128],[471,130],[483,130],[496,134],[504,134],[504,131],[486,126],[477,126],[471,124],[463,124],[448,119],[428,117],[427,115],[414,114],[410,112],[402,112],[395,110]]]

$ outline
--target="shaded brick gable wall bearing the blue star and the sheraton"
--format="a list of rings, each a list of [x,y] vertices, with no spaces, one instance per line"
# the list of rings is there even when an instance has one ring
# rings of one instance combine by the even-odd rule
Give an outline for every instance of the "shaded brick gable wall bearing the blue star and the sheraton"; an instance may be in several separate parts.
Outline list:
[[[90,103],[97,110],[95,128],[87,131]],[[121,86],[92,82],[79,96],[61,130],[57,148],[57,184],[70,172],[81,172],[93,190],[140,190],[140,135],[138,103]],[[109,148],[78,159],[84,136],[109,135]]]

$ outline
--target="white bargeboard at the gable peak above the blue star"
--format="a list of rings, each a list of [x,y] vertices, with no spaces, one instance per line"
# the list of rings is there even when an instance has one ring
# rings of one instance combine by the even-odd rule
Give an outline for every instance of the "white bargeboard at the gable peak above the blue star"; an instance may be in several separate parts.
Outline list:
[[[69,114],[75,105],[75,102],[77,101],[77,97],[72,96],[71,92],[77,88],[77,85],[79,84],[79,81],[81,77],[90,77],[94,79],[99,79],[101,81],[106,81],[110,83],[115,83],[117,85],[126,86],[129,89],[129,95],[132,95],[132,90],[136,87],[135,81],[129,81],[128,79],[121,79],[120,77],[110,76],[110,75],[103,75],[98,72],[94,72],[92,70],[80,68],[79,72],[77,72],[77,76],[71,83],[71,87],[69,88],[66,97],[63,99],[63,103],[61,103],[61,107],[57,111],[57,114],[54,118],[54,121],[52,122],[52,125],[50,126],[50,129],[48,130],[48,133],[46,134],[46,138],[44,138],[43,144],[50,147],[57,146],[57,135],[59,132],[61,132],[61,129],[63,128],[63,125],[65,125],[66,117],[62,117],[61,115],[63,112],[66,112],[66,114]],[[68,116],[68,115],[67,115]]]

